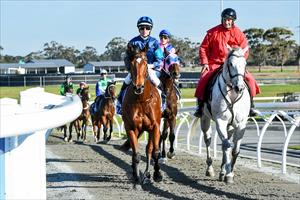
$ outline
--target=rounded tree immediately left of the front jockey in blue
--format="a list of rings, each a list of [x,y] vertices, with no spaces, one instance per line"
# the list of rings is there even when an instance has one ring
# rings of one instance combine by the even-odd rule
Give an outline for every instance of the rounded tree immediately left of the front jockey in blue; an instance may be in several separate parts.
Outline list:
[[[115,37],[106,45],[106,51],[100,55],[101,60],[119,61],[126,51],[127,42],[121,37]]]

